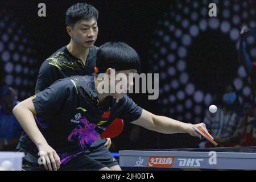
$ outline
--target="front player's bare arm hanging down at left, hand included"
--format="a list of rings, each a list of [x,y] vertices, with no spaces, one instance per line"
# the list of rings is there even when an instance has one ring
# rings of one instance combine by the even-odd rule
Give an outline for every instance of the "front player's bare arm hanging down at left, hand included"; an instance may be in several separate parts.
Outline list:
[[[32,98],[27,98],[26,100],[20,102],[13,109],[13,114],[16,119],[19,121],[23,130],[27,133],[28,137],[35,143],[38,147],[39,154],[44,163],[44,167],[52,171],[60,168],[60,158],[57,155],[56,151],[50,147],[43,137],[43,134],[38,129],[36,125],[34,115],[36,114]],[[52,167],[51,167],[52,164]]]

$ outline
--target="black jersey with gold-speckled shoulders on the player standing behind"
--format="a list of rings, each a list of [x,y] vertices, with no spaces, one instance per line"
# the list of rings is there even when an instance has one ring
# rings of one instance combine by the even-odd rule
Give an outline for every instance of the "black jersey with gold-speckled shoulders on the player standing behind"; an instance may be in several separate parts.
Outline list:
[[[53,82],[76,75],[92,75],[93,67],[96,65],[96,54],[98,47],[92,46],[85,62],[73,56],[64,46],[53,53],[41,65],[36,81],[35,92],[43,91]]]

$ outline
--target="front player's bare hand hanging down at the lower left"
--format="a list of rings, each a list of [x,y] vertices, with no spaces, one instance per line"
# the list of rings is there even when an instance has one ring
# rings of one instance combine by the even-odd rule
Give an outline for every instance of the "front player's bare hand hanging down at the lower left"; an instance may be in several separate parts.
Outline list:
[[[60,168],[60,157],[56,151],[48,144],[38,146],[40,160],[43,162],[44,168],[49,171],[57,171]]]

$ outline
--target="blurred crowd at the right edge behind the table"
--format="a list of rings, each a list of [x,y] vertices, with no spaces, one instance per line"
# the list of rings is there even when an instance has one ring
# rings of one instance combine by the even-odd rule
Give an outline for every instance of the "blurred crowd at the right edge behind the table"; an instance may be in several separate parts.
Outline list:
[[[243,104],[238,100],[238,94],[233,84],[229,84],[216,95],[218,106],[216,113],[206,111],[204,123],[218,147],[256,146],[256,61],[250,60],[246,51],[246,38],[256,36],[254,30],[242,27],[240,32],[239,61],[246,71],[252,94]],[[200,147],[213,147],[207,141]]]

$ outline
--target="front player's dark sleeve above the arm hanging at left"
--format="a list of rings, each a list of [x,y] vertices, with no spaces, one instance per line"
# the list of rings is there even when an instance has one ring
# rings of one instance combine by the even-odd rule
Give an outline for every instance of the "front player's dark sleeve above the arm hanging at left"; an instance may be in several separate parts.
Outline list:
[[[33,99],[36,115],[39,117],[53,115],[61,110],[67,103],[71,93],[70,80],[57,80],[54,84],[36,93]]]

